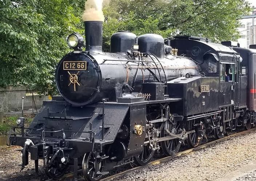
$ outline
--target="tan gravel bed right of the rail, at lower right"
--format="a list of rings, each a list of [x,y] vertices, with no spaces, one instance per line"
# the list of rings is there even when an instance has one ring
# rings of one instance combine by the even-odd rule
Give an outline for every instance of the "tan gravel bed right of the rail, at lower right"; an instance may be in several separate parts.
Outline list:
[[[256,161],[256,132],[232,137],[187,155],[150,165],[114,181],[225,181],[225,176]]]

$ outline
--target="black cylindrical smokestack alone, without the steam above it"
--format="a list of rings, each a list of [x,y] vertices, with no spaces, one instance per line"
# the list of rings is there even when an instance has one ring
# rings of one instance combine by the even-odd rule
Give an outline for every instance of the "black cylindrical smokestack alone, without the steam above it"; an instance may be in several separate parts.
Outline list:
[[[86,51],[102,52],[103,21],[84,21]]]

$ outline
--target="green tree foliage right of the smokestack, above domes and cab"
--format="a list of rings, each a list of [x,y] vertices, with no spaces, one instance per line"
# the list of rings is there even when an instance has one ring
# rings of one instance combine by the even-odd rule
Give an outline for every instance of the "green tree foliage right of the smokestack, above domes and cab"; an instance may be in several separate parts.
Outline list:
[[[112,0],[105,8],[105,27],[111,32],[194,35],[220,42],[239,38],[240,16],[248,12],[244,0]],[[108,35],[105,32],[106,39]]]

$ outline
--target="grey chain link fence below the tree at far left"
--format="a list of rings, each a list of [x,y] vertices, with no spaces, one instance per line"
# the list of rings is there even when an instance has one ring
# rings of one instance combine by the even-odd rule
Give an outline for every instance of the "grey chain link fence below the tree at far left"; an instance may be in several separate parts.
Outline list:
[[[24,114],[35,114],[48,101],[49,97],[39,94],[35,89],[24,90],[1,90],[0,91],[0,112],[4,115],[21,114],[22,100],[24,101]]]

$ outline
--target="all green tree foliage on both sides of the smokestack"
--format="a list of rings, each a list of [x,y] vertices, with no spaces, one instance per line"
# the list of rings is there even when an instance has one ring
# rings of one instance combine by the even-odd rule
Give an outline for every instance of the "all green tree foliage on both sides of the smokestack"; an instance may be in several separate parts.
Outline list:
[[[84,0],[0,0],[0,87],[51,89],[68,34],[83,34]],[[111,0],[104,8],[104,49],[119,30],[163,37],[195,35],[236,40],[244,0]]]

